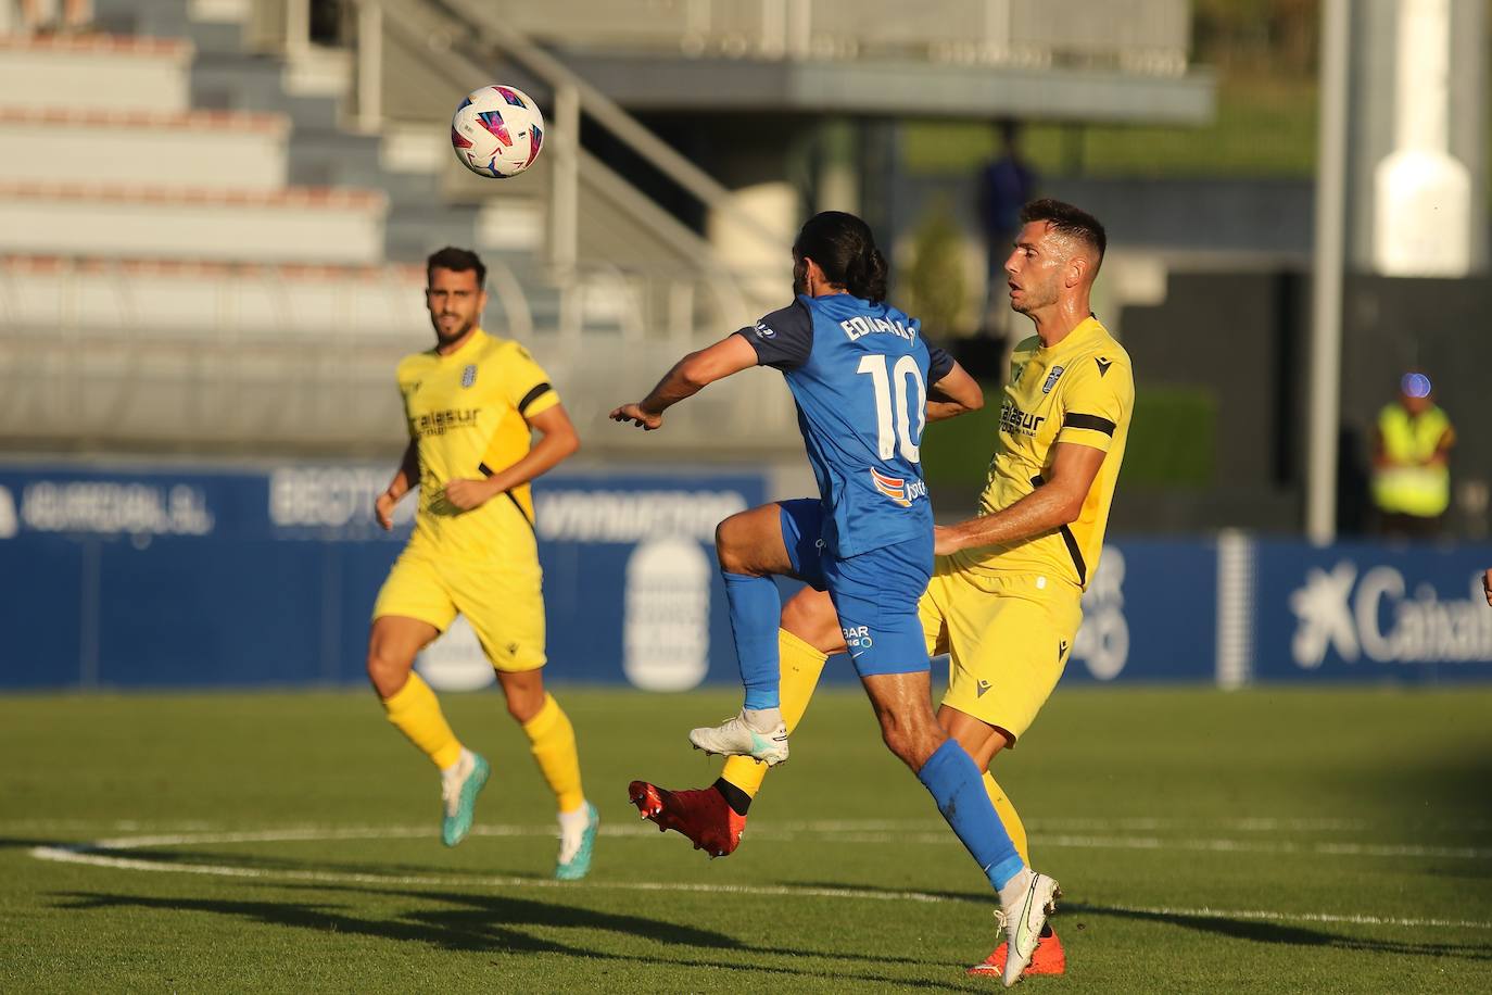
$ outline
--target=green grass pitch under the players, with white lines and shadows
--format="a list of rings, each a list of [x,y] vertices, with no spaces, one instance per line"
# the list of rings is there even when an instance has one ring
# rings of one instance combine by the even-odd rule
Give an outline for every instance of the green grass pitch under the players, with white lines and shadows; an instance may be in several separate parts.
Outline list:
[[[455,850],[367,694],[0,698],[0,991],[995,988],[962,974],[992,944],[988,889],[858,691],[815,703],[734,856],[637,823],[627,782],[709,782],[683,732],[733,698],[561,691],[612,831],[565,886],[489,694],[446,697],[495,768],[486,834]],[[1489,713],[1488,689],[1061,689],[997,764],[1067,894],[1068,974],[1026,991],[1486,991]],[[307,825],[369,832],[221,835]],[[143,834],[169,838],[112,855],[166,873],[31,853]],[[189,865],[219,873],[170,871]]]

